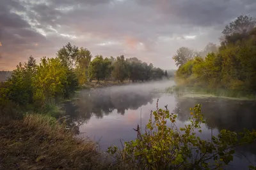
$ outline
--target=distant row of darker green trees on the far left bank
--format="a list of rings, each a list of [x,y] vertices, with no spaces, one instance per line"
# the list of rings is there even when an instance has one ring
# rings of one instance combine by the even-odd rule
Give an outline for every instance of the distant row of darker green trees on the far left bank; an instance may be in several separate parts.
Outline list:
[[[97,55],[89,65],[90,80],[114,80],[119,82],[129,81],[152,81],[168,78],[167,71],[163,71],[153,64],[142,62],[136,57],[125,59],[124,55],[120,57],[107,57],[103,59],[102,55]]]

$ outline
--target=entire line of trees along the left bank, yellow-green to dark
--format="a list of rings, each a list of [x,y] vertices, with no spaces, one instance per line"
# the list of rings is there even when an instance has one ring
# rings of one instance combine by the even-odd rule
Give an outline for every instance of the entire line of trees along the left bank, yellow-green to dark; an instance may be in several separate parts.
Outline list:
[[[136,57],[125,59],[97,55],[78,46],[63,46],[55,58],[42,57],[40,63],[30,56],[19,63],[12,76],[0,87],[1,99],[17,104],[38,104],[68,98],[86,82],[97,80],[150,81],[161,80],[167,72]]]

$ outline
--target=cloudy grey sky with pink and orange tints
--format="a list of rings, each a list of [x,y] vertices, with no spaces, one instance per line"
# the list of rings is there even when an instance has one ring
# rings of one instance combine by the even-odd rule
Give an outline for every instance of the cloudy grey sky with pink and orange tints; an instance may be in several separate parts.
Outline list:
[[[55,57],[67,42],[173,69],[177,48],[218,43],[225,25],[255,9],[255,0],[0,0],[0,70]]]

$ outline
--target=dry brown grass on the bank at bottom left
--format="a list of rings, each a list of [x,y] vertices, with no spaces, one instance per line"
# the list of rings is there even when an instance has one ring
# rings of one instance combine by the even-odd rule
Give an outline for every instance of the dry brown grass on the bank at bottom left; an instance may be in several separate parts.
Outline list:
[[[101,169],[90,139],[74,138],[54,118],[27,115],[0,126],[0,169]]]

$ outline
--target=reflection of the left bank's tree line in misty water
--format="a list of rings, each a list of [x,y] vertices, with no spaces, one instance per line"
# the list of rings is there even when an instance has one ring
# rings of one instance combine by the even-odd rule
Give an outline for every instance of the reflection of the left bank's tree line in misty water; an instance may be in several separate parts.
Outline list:
[[[163,90],[165,83],[170,85],[170,82],[164,81],[162,86],[152,83],[142,88],[141,85],[133,85],[83,90],[77,99],[65,104],[65,110],[78,124],[88,122],[92,116],[103,118],[113,110],[124,115],[127,110],[138,110],[141,106],[152,104],[154,98],[160,97],[154,89]]]

